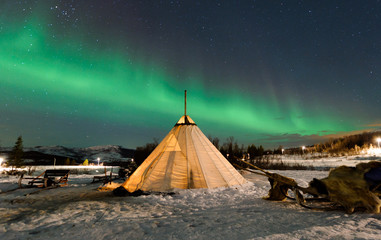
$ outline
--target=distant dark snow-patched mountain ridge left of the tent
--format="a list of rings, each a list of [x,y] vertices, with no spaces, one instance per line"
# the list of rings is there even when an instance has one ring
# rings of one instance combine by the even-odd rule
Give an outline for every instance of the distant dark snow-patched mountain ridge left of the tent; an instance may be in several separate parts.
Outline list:
[[[0,154],[9,157],[12,147],[0,148]],[[50,164],[56,159],[56,164],[64,164],[67,158],[82,163],[86,159],[97,163],[124,162],[134,157],[135,150],[118,145],[93,146],[87,148],[69,148],[64,146],[24,147],[24,159],[31,164]]]

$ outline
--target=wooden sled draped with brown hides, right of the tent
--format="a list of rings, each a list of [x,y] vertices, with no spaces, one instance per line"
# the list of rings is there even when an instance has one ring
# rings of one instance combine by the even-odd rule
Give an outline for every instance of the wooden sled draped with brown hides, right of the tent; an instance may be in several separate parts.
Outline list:
[[[241,161],[261,173],[252,169],[245,170],[268,177],[271,189],[268,196],[264,198],[266,200],[293,199],[302,207],[317,210],[343,209],[347,213],[353,213],[358,208],[365,209],[370,213],[381,212],[379,175],[373,177],[372,181],[367,179],[367,174],[369,175],[375,170],[380,171],[380,161],[361,163],[356,167],[335,168],[330,171],[328,177],[320,180],[313,179],[307,188],[300,187],[292,178],[271,173],[251,163]],[[377,174],[379,173],[377,172]],[[289,191],[294,193],[294,198],[288,196]]]

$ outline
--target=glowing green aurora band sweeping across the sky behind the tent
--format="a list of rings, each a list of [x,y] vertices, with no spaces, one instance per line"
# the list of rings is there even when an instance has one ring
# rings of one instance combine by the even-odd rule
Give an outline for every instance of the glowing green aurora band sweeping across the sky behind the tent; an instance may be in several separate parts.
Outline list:
[[[287,138],[266,137],[359,130],[355,120],[318,99],[304,103],[295,91],[285,89],[278,96],[264,87],[250,94],[234,80],[230,85],[205,85],[207,79],[191,66],[184,73],[187,78],[178,81],[157,56],[127,55],[113,42],[102,48],[94,42],[83,44],[80,35],[56,40],[47,24],[33,16],[27,23],[2,27],[0,110],[12,117],[1,116],[3,146],[21,134],[26,145],[133,148],[171,129],[183,114],[184,89],[188,114],[206,135],[222,141],[234,136],[244,144],[287,146]],[[102,136],[107,132],[112,135]]]

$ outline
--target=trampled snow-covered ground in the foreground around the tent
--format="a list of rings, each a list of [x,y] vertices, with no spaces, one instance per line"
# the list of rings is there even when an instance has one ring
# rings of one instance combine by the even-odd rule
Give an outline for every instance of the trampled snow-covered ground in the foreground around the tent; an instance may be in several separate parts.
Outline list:
[[[328,175],[273,172],[301,186]],[[16,188],[18,179],[3,175],[0,239],[380,239],[380,214],[314,211],[292,201],[266,201],[267,179],[242,174],[249,181],[242,187],[140,197],[98,192],[100,184],[91,183],[91,174],[70,175],[69,186],[35,194],[28,195],[35,188],[4,193]]]

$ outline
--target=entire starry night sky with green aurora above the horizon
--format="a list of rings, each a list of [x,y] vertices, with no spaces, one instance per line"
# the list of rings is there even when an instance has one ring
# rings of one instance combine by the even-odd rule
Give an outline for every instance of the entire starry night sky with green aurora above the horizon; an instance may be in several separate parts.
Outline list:
[[[380,1],[0,3],[0,146],[129,148],[187,113],[285,147],[381,128]]]

